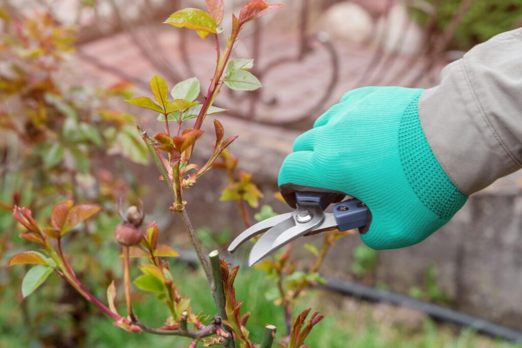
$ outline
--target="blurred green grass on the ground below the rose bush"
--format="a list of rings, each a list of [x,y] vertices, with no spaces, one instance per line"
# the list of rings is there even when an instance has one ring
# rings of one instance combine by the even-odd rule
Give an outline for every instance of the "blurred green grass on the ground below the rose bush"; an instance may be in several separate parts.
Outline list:
[[[179,284],[182,294],[190,294],[192,306],[195,311],[203,308],[212,308],[212,298],[208,292],[205,278],[198,272],[193,272],[182,265],[173,267],[173,274]],[[259,342],[266,323],[272,323],[279,328],[278,337],[284,331],[281,308],[265,299],[265,293],[271,289],[272,280],[264,278],[263,272],[257,270],[241,269],[236,278],[236,296],[244,301],[243,309],[250,309],[253,314],[248,320],[248,329],[254,342]],[[30,306],[38,305],[45,301],[43,296],[53,289],[46,286],[43,294],[30,299]],[[36,295],[36,294],[35,294]],[[37,341],[30,345],[28,330],[22,326],[22,316],[19,305],[12,301],[15,290],[7,290],[2,294],[2,306],[0,306],[0,347],[38,347]],[[118,297],[122,297],[122,289],[119,289]],[[9,301],[9,298],[11,300]],[[306,343],[310,347],[328,348],[514,348],[517,345],[506,342],[497,342],[469,330],[458,331],[448,326],[435,325],[429,319],[420,319],[413,330],[400,324],[387,322],[393,317],[393,312],[379,318],[379,307],[370,304],[358,303],[330,293],[312,291],[301,299],[296,310],[312,306],[319,309],[327,317],[319,323]],[[124,313],[124,308],[121,308]],[[141,321],[150,326],[161,326],[167,311],[156,302],[153,296],[144,297],[143,302],[135,305],[135,310]],[[243,312],[244,312],[243,310]],[[394,310],[394,309],[392,309]],[[387,319],[386,319],[387,318]],[[41,328],[45,321],[38,323]],[[62,325],[63,322],[52,323]],[[2,327],[4,326],[4,330]],[[5,327],[8,326],[7,329]],[[88,328],[85,347],[109,348],[109,347],[186,347],[189,341],[184,338],[165,337],[151,334],[131,334],[112,325],[110,319],[97,316],[90,317],[84,322]]]

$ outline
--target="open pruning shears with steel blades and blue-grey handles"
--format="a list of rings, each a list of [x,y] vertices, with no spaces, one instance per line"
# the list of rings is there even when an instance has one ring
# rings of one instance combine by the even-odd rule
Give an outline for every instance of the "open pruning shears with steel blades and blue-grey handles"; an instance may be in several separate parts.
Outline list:
[[[236,237],[228,251],[234,253],[243,243],[265,232],[252,247],[248,266],[268,256],[294,239],[320,232],[347,231],[366,226],[370,210],[358,199],[350,198],[333,206],[333,212],[324,210],[339,197],[338,194],[298,191],[296,209],[260,221]]]

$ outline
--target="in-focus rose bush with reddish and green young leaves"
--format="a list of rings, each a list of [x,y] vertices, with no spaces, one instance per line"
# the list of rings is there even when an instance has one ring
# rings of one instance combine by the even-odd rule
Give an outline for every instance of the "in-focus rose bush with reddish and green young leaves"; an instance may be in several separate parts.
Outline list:
[[[231,60],[231,53],[245,23],[268,14],[282,7],[282,5],[269,5],[263,0],[253,0],[246,3],[242,7],[238,17],[233,15],[232,31],[222,54],[220,52],[221,47],[218,34],[223,31],[222,28],[219,27],[223,16],[223,2],[222,0],[209,0],[207,1],[207,5],[209,7],[209,13],[200,9],[188,8],[176,11],[165,21],[165,23],[174,27],[195,30],[201,39],[207,38],[210,34],[216,38],[216,68],[208,91],[202,98],[203,103],[200,104],[198,100],[200,82],[196,78],[176,83],[169,93],[167,82],[157,75],[153,76],[149,83],[153,98],[138,97],[132,99],[129,98],[128,95],[125,95],[125,98],[130,104],[160,113],[160,117],[158,118],[165,124],[164,133],[158,133],[154,135],[153,138],[150,138],[141,128],[138,127],[138,129],[141,137],[145,141],[147,150],[158,166],[161,180],[167,185],[173,196],[174,202],[170,210],[179,213],[184,222],[189,238],[206,274],[219,316],[214,316],[213,319],[208,321],[210,315],[203,314],[203,311],[196,314],[191,306],[191,299],[188,296],[182,296],[180,294],[177,289],[175,277],[173,277],[170,272],[170,264],[164,259],[165,257],[175,257],[177,253],[168,245],[158,245],[159,229],[155,223],[149,224],[146,228],[146,232],[142,230],[141,224],[143,223],[145,215],[143,207],[129,207],[126,213],[120,210],[123,223],[115,229],[116,240],[123,247],[122,257],[127,309],[126,316],[120,315],[115,305],[117,297],[115,282],[112,281],[106,290],[108,305],[104,305],[87,290],[85,285],[77,277],[62,248],[64,235],[71,229],[76,228],[75,226],[82,223],[90,217],[90,215],[98,212],[99,207],[97,206],[88,204],[75,206],[70,200],[57,203],[51,212],[51,221],[48,227],[41,228],[32,217],[31,210],[21,208],[18,206],[18,202],[15,202],[13,216],[28,230],[28,232],[22,233],[21,237],[38,244],[42,253],[37,251],[23,251],[11,258],[10,265],[36,264],[36,266],[26,274],[26,278],[22,282],[23,296],[30,295],[54,271],[72,285],[87,301],[98,307],[105,315],[111,317],[114,320],[115,326],[129,332],[149,332],[184,336],[192,340],[190,346],[196,346],[198,342],[203,342],[206,346],[218,344],[234,347],[238,344],[241,347],[248,348],[255,348],[257,346],[266,347],[272,345],[276,328],[273,326],[267,326],[265,328],[265,330],[268,330],[268,334],[265,335],[260,345],[251,341],[249,331],[246,328],[246,322],[250,313],[247,312],[241,315],[241,302],[238,301],[235,296],[234,280],[239,271],[239,267],[229,269],[229,265],[224,260],[219,261],[217,266],[215,266],[216,262],[213,262],[213,260],[218,256],[217,251],[211,253],[211,262],[208,262],[186,213],[185,205],[187,202],[183,200],[183,191],[193,187],[197,183],[198,178],[208,172],[213,166],[221,167],[227,172],[230,179],[230,184],[223,189],[221,200],[235,201],[238,205],[238,209],[242,213],[245,224],[250,225],[250,219],[244,203],[247,203],[247,205],[252,208],[256,208],[258,199],[262,197],[262,194],[256,185],[252,183],[252,174],[238,171],[238,160],[226,150],[236,139],[236,136],[224,137],[224,127],[215,119],[213,125],[215,128],[216,141],[210,158],[200,167],[191,162],[191,157],[197,140],[204,134],[204,131],[200,128],[206,115],[224,111],[212,107],[212,103],[219,94],[221,87],[227,86],[230,89],[238,91],[252,91],[261,87],[259,80],[252,75],[250,71],[247,71],[253,67],[253,60]],[[35,52],[34,56],[40,54],[40,52]],[[47,71],[48,77],[51,76],[51,72],[52,69]],[[9,85],[11,82],[13,81],[9,80],[9,83],[5,83],[4,85]],[[20,82],[19,85],[21,88],[27,87],[26,81]],[[75,111],[76,104],[67,100],[68,95],[64,92],[56,92],[56,90],[59,91],[58,86],[52,86],[49,91],[45,91],[44,93],[29,94],[34,100],[33,105],[41,105],[44,110],[48,104],[53,106],[53,116],[58,115],[58,117],[53,118],[53,125],[58,124],[59,126],[64,125],[64,127],[68,127],[67,131],[57,133],[57,136],[48,141],[48,149],[46,149],[42,155],[43,166],[46,170],[50,170],[54,167],[62,169],[65,153],[67,151],[71,153],[81,151],[83,149],[82,147],[76,147],[78,147],[78,144],[82,141],[91,142],[101,150],[107,150],[109,153],[112,153],[111,147],[113,143],[125,143],[121,137],[128,137],[132,134],[130,128],[125,125],[127,121],[134,121],[128,115],[106,110],[105,107],[97,107],[96,110],[91,111],[88,115],[80,115]],[[118,89],[116,88],[116,90]],[[7,92],[10,95],[17,91],[9,90]],[[108,94],[106,91],[104,91],[104,93]],[[23,94],[23,98],[25,98],[26,95],[27,94]],[[32,110],[31,107],[29,107],[26,112],[30,110]],[[30,121],[38,129],[42,127],[52,129],[46,125],[48,121],[46,116],[46,112],[39,111],[38,117],[32,118]],[[60,118],[60,116],[62,117]],[[192,118],[195,118],[194,126],[183,127],[184,122]],[[38,123],[35,122],[35,119]],[[97,121],[100,121],[98,125],[105,128],[103,132],[97,133],[97,128],[94,126]],[[114,125],[112,125],[113,128],[108,130],[108,125],[102,125],[104,121],[114,123]],[[170,122],[177,124],[177,130],[172,131],[172,133]],[[12,123],[7,123],[7,128],[16,131],[16,126],[13,126]],[[80,132],[80,134],[74,134],[74,132],[71,134],[70,130],[75,130],[76,128],[85,129],[83,132]],[[127,141],[123,148],[128,149],[131,144],[137,147],[136,142]],[[75,146],[75,148],[71,149],[73,146]],[[140,151],[139,148],[135,150],[137,150],[138,153],[144,152]],[[129,155],[133,152],[123,150],[122,154]],[[73,155],[73,158],[74,157]],[[134,158],[134,160],[136,159]],[[75,173],[79,170],[79,167],[83,165],[84,171],[87,172],[89,170],[88,162],[88,160],[75,160],[73,161],[70,171]],[[75,183],[72,185],[73,188],[75,187],[74,184]],[[257,217],[263,218],[272,213],[270,209],[265,207]],[[289,269],[285,269],[288,257],[283,257],[283,259],[278,261],[280,267],[278,266],[279,268],[276,269],[276,272],[278,272],[279,275],[288,275],[287,283],[289,289],[294,290],[292,299],[288,299],[288,301],[284,294],[281,293],[283,301],[288,303],[288,306],[285,307],[287,313],[288,338],[282,341],[281,344],[283,346],[304,347],[304,340],[307,335],[316,323],[323,319],[323,316],[314,313],[311,319],[306,320],[310,311],[310,309],[307,309],[294,319],[291,328],[288,324],[291,318],[293,299],[298,297],[299,293],[307,286],[322,281],[317,273],[317,268],[321,264],[328,247],[336,238],[345,234],[346,233],[339,232],[325,234],[324,247],[321,252],[315,250],[317,260],[314,269],[309,274],[295,271],[295,267],[293,266]],[[312,246],[308,246],[307,248],[314,252]],[[287,256],[289,255],[289,250],[290,249],[287,250]],[[158,329],[145,325],[138,320],[134,314],[133,298],[131,297],[130,258],[144,258],[147,260],[146,263],[139,266],[141,274],[134,280],[134,284],[141,291],[155,294],[157,299],[162,302],[169,311],[169,318],[167,318],[164,325]]]

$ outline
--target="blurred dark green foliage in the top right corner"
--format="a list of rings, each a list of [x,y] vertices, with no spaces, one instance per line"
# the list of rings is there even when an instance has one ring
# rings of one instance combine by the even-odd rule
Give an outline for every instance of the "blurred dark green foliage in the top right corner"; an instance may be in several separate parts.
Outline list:
[[[430,1],[433,3],[433,0]],[[457,13],[460,2],[443,0],[438,8],[436,30],[443,32],[450,19]],[[425,14],[416,15],[422,23]],[[492,38],[496,34],[512,30],[522,25],[522,4],[517,0],[477,0],[472,2],[453,37],[453,46],[469,50],[474,45]]]

